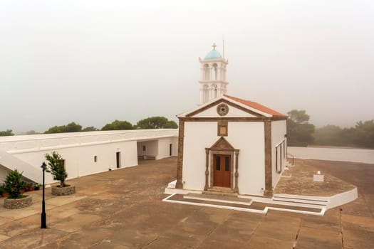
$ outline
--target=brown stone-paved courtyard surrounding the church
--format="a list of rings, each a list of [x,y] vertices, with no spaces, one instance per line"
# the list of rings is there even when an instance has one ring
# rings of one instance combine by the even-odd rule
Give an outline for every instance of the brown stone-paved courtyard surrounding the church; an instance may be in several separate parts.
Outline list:
[[[296,160],[358,186],[358,199],[325,216],[262,215],[162,202],[176,158],[68,181],[73,196],[41,191],[33,206],[0,208],[0,248],[374,248],[374,165]],[[1,198],[2,200],[2,198]]]

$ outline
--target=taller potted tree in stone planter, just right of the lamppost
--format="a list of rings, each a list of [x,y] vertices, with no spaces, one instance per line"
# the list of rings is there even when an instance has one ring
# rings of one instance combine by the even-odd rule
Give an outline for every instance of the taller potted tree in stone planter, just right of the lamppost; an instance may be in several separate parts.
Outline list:
[[[52,186],[52,194],[55,196],[67,196],[69,194],[76,193],[76,187],[65,184],[65,180],[68,177],[65,166],[63,165],[63,158],[57,152],[46,154],[46,160],[48,166],[46,171],[51,173],[53,180],[60,181],[57,186]]]

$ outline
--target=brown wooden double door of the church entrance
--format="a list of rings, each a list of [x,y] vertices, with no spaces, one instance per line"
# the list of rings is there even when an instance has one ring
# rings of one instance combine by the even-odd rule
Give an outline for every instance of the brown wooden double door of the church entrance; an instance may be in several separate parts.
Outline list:
[[[213,186],[225,188],[231,187],[231,155],[214,154],[213,155]]]

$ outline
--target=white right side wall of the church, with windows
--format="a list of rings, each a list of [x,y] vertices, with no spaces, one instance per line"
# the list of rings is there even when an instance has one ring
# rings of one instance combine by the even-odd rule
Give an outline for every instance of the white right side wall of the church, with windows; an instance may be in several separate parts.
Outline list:
[[[275,187],[281,178],[281,173],[276,172],[276,146],[284,141],[284,135],[287,133],[286,130],[286,120],[273,121],[271,122],[271,175],[272,175],[272,186]],[[281,161],[278,161],[281,164],[282,172],[285,169],[286,157],[283,157],[283,147],[282,154],[278,158]],[[280,166],[280,165],[279,165]]]

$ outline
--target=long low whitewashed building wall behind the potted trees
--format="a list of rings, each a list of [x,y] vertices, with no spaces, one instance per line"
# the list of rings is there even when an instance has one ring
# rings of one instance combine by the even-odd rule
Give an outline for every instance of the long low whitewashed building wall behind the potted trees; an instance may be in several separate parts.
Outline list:
[[[120,152],[121,168],[135,166],[138,140],[153,140],[157,145],[157,140],[161,139],[161,144],[174,143],[174,150],[177,149],[177,134],[177,129],[146,129],[0,137],[0,181],[9,170],[21,165],[24,176],[41,182],[40,166],[45,161],[44,155],[53,151],[66,160],[68,179],[116,169],[117,152]],[[168,156],[168,148],[167,144],[167,154],[163,149],[161,154],[157,151],[155,155]],[[51,174],[46,174],[46,183],[51,182]]]

